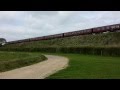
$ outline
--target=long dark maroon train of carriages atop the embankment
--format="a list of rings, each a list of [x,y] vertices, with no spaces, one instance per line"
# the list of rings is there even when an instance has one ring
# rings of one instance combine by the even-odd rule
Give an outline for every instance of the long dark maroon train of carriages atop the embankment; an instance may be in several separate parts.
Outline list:
[[[11,41],[11,42],[7,42],[7,44],[41,41],[41,40],[49,40],[49,39],[54,39],[54,38],[64,38],[64,37],[70,37],[70,36],[99,34],[99,33],[104,33],[104,32],[117,32],[117,31],[120,31],[120,24],[95,27],[95,28],[90,28],[90,29],[85,29],[85,30],[67,32],[67,33],[61,33],[61,34],[55,34],[55,35],[48,35],[48,36],[42,36],[42,37],[36,37],[36,38],[29,38],[29,39],[23,39],[23,40],[17,40],[17,41]]]

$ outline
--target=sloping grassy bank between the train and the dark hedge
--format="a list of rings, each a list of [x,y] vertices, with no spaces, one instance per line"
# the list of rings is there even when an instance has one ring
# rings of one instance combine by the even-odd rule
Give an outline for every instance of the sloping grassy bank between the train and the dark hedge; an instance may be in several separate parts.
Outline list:
[[[103,33],[96,35],[80,35],[52,40],[27,42],[14,45],[6,45],[6,48],[41,48],[41,47],[81,47],[81,46],[114,46],[120,47],[120,32]]]

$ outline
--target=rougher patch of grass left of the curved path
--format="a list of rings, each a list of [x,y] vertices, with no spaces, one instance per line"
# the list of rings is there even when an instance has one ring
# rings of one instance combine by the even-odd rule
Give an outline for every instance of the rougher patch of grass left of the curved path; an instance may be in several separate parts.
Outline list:
[[[28,66],[47,59],[40,53],[0,52],[0,72]]]

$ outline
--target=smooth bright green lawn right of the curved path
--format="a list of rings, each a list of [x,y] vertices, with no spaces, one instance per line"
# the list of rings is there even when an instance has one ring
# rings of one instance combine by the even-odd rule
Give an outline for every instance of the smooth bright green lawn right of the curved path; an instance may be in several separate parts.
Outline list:
[[[120,79],[120,57],[56,54],[70,59],[69,67],[47,79]]]

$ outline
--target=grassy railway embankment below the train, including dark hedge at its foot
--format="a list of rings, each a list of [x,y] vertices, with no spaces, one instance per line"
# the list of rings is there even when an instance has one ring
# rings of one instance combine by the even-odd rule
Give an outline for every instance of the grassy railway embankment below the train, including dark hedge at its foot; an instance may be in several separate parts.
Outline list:
[[[0,50],[120,56],[120,32],[11,44]]]

